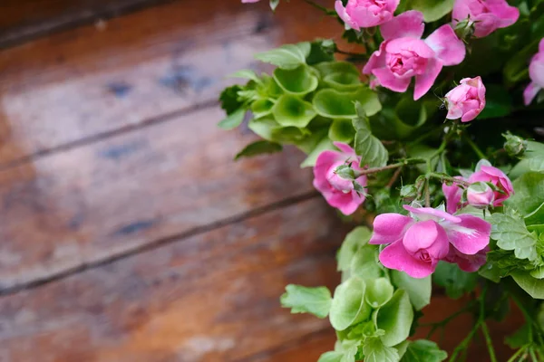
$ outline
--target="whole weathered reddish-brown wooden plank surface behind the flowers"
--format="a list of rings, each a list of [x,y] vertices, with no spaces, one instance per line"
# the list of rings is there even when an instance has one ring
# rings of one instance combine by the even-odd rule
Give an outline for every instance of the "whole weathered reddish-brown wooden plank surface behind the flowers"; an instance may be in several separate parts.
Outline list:
[[[335,287],[349,225],[296,149],[235,163],[255,137],[216,124],[228,73],[279,43],[337,39],[338,24],[301,0],[276,16],[238,0],[3,0],[0,29],[0,361],[304,362],[333,348],[327,320],[278,297]],[[437,295],[423,320],[460,306]],[[480,344],[472,356],[487,358]]]

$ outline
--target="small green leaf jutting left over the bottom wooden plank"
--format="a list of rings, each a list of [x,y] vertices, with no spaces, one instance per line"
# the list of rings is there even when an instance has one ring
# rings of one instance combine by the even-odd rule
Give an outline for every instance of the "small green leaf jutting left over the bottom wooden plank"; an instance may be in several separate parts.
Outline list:
[[[281,305],[291,308],[291,313],[310,313],[325,318],[331,308],[331,292],[325,287],[307,288],[289,284],[281,296]]]

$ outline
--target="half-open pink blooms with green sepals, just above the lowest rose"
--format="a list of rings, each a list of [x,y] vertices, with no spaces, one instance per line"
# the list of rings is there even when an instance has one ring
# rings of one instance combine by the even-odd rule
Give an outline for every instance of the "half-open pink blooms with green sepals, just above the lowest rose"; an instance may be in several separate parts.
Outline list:
[[[466,205],[475,207],[499,207],[506,201],[510,195],[514,195],[514,187],[510,178],[500,171],[497,167],[492,167],[488,162],[481,161],[476,167],[476,171],[467,179],[462,176],[455,178],[468,182],[467,200],[462,202],[464,189],[459,184],[442,185],[442,192],[446,197],[446,211],[454,214]],[[494,186],[494,190],[491,186]]]

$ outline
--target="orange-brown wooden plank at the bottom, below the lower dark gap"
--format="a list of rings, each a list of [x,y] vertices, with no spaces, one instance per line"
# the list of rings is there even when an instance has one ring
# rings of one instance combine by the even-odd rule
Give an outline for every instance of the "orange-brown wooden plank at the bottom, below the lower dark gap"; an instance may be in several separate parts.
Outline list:
[[[313,199],[0,298],[6,361],[235,361],[324,329],[290,282],[334,287],[345,225]]]

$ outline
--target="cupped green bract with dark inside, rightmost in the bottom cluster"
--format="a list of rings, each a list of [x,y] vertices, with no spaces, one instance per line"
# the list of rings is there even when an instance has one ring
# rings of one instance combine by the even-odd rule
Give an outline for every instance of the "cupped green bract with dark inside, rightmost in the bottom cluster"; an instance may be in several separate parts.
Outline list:
[[[408,293],[395,291],[393,298],[377,310],[376,327],[384,329],[380,337],[385,346],[393,347],[410,335],[413,322],[413,309]]]

